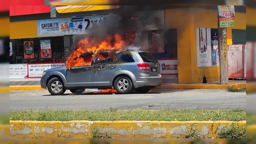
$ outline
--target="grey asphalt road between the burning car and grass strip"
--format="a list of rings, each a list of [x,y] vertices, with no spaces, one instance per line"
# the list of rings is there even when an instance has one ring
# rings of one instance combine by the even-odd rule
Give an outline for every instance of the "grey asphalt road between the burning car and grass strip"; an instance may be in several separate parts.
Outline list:
[[[246,92],[224,89],[153,89],[147,94],[52,96],[47,90],[10,91],[10,110],[73,109],[246,109]]]

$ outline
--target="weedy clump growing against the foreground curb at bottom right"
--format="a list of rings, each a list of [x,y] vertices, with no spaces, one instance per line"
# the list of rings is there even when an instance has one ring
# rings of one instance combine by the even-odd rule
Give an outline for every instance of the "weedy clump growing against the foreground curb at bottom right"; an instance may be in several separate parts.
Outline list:
[[[219,132],[218,138],[246,138],[246,127],[239,127],[236,125],[236,123],[234,123],[231,125],[231,127],[222,128]]]

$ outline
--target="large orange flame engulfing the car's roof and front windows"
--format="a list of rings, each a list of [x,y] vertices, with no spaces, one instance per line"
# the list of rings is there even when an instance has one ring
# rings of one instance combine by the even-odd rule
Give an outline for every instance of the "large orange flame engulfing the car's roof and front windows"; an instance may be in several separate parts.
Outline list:
[[[75,47],[75,50],[69,56],[66,67],[69,69],[71,67],[76,66],[87,66],[91,65],[92,58],[98,51],[106,51],[108,50],[121,50],[124,46],[128,46],[132,44],[133,39],[135,38],[136,33],[126,33],[124,36],[119,34],[115,34],[114,36],[108,35],[106,38],[95,40],[93,38],[87,37],[81,39]],[[86,52],[93,52],[92,55],[81,56]],[[113,55],[109,55],[108,57],[113,59]],[[106,59],[104,55],[97,54],[97,58],[100,60]]]

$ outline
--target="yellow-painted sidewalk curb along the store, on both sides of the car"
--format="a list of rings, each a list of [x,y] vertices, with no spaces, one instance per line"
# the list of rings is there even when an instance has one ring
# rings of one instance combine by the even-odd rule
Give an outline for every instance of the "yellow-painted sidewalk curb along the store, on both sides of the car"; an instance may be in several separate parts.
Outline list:
[[[243,89],[246,88],[246,83],[236,83],[236,84],[171,84],[171,85],[160,85],[157,89]],[[37,90],[42,89],[40,85],[26,85],[26,86],[10,86],[11,90]],[[3,89],[8,91],[8,88]],[[44,89],[43,89],[44,90]],[[0,88],[1,92],[1,88]]]

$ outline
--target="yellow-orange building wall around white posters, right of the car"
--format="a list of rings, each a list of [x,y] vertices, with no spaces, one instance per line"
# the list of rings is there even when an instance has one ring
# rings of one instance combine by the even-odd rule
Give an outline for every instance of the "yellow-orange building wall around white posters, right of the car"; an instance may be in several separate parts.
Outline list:
[[[179,84],[202,83],[220,80],[219,67],[197,67],[196,28],[218,27],[218,10],[183,8],[165,10],[165,28],[177,28]],[[228,44],[232,44],[231,29],[246,29],[246,14],[235,13],[235,26],[227,28]]]

